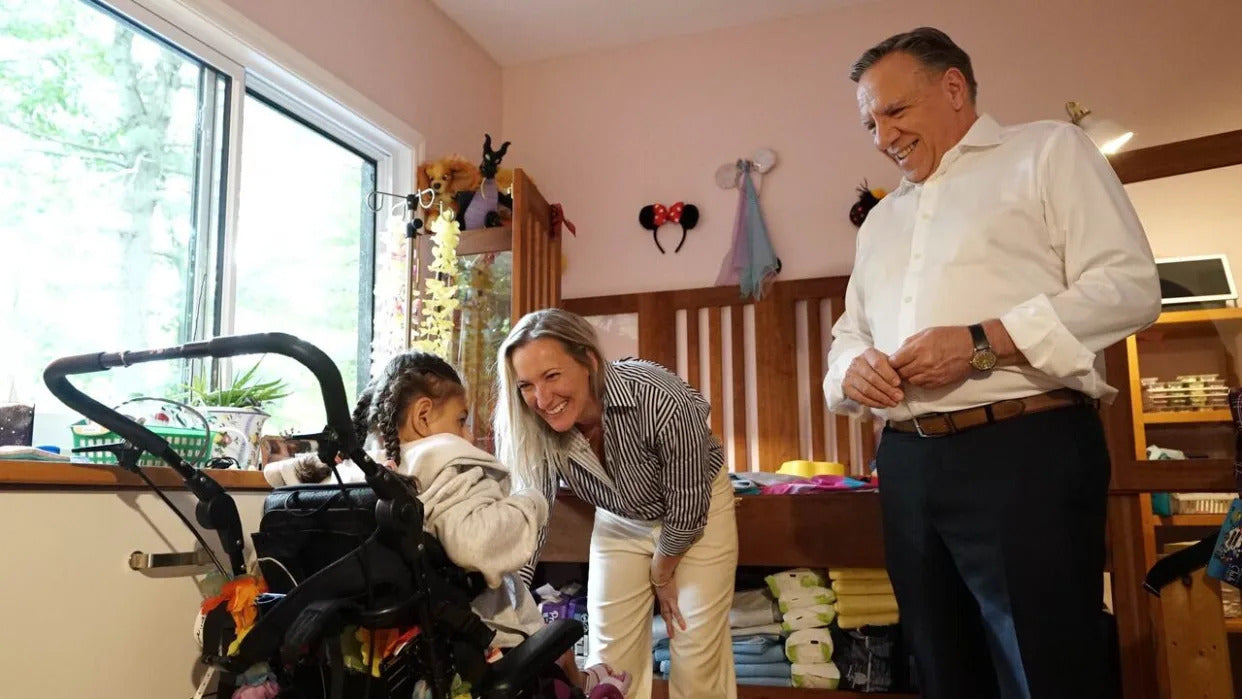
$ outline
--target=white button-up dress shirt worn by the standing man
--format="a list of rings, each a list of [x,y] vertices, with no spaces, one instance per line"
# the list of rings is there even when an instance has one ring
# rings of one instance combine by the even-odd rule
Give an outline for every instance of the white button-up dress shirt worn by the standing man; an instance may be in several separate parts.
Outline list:
[[[1071,387],[1110,400],[1102,350],[1151,324],[1160,283],[1143,226],[1108,160],[1068,122],[1002,128],[981,115],[927,180],[881,200],[858,231],[823,394],[835,412],[850,363],[892,355],[927,328],[999,318],[1030,364],[934,390],[903,385],[889,420]]]

